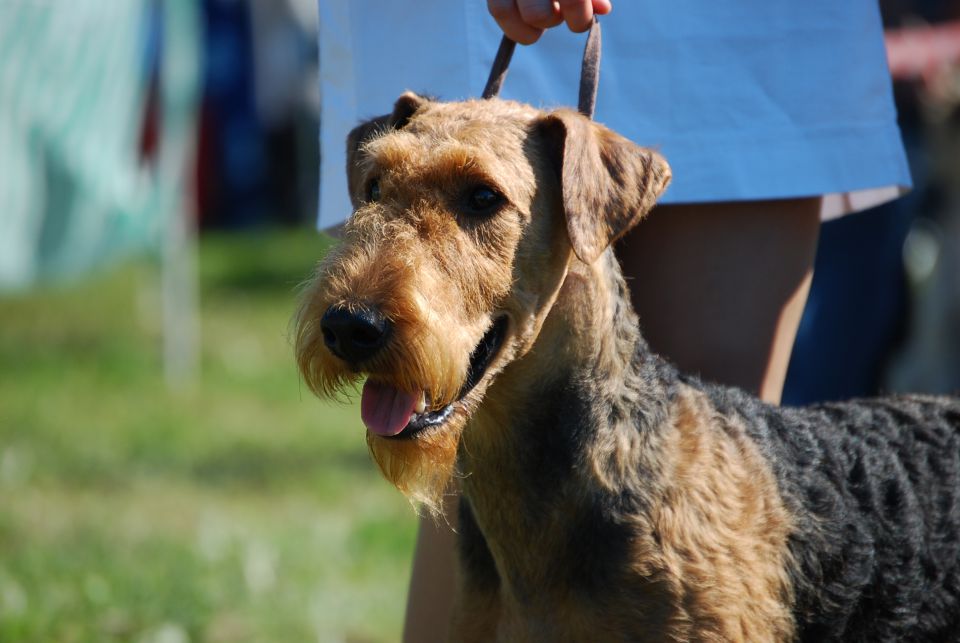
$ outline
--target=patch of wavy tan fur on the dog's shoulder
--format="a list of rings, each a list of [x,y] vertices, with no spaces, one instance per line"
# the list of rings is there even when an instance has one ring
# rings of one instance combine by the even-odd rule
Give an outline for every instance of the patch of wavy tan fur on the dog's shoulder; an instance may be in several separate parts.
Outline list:
[[[665,488],[650,516],[660,545],[638,546],[634,562],[675,588],[670,638],[790,640],[791,522],[773,473],[743,427],[716,416],[702,394],[688,391],[674,412]]]

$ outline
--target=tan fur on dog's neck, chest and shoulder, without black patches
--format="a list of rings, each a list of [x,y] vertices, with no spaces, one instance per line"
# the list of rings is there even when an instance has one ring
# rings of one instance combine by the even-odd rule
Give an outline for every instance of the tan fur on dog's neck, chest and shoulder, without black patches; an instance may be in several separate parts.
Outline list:
[[[617,295],[600,276],[606,270],[603,262],[579,264],[567,276],[536,346],[494,382],[462,438],[462,466],[468,474],[464,488],[478,513],[501,515],[500,523],[487,526],[495,556],[542,592],[544,618],[531,622],[528,600],[520,601],[508,587],[501,589],[497,640],[635,640],[624,633],[639,631],[642,640],[678,643],[790,641],[790,514],[769,465],[744,428],[715,414],[693,389],[684,390],[671,408],[661,442],[651,444],[629,433],[620,442],[597,444],[589,470],[571,472],[572,498],[576,490],[621,487],[638,461],[653,474],[645,489],[652,511],[634,518],[633,580],[625,581],[629,592],[620,594],[626,598],[602,606],[584,603],[563,588],[549,587],[559,556],[530,555],[561,551],[563,543],[552,535],[562,532],[525,515],[517,500],[522,490],[514,482],[518,470],[498,462],[494,472],[486,463],[504,443],[508,451],[520,449],[522,436],[504,427],[511,410],[529,394],[530,383],[542,380],[535,374],[589,359],[612,374],[610,385],[616,386],[617,372],[627,360],[609,332],[610,304]],[[557,520],[564,517],[561,510]],[[558,604],[564,607],[558,609]]]

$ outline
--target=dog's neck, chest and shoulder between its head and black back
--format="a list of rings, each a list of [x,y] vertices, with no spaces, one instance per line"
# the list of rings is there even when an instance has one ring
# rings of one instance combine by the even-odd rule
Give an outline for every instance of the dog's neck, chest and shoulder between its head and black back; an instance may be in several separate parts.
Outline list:
[[[791,638],[791,514],[706,388],[647,348],[612,256],[572,266],[461,445],[462,591],[497,606],[504,640],[613,638],[562,628],[624,614],[670,640],[698,620],[723,622],[718,640]]]

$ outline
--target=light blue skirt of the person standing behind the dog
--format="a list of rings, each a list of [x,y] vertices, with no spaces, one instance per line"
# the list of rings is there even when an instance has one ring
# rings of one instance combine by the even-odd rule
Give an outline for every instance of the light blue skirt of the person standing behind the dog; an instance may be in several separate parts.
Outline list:
[[[320,0],[321,225],[349,214],[343,141],[406,89],[479,95],[501,33],[479,0]],[[875,0],[621,0],[596,119],[659,149],[665,203],[827,195],[824,217],[910,186]],[[518,47],[501,96],[576,105],[585,36]]]

